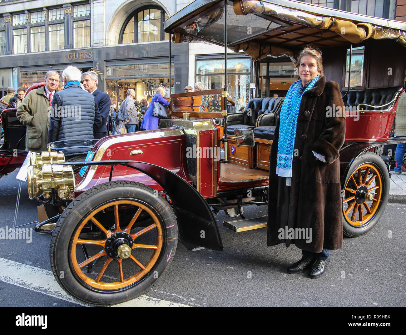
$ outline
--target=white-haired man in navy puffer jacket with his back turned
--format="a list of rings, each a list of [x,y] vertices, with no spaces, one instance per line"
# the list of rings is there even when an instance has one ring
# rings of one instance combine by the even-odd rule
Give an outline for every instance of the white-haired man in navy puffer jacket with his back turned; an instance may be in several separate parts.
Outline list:
[[[93,139],[102,126],[95,97],[80,86],[81,74],[74,66],[68,66],[62,72],[65,87],[54,94],[50,109],[50,143],[69,139]],[[87,151],[86,148],[70,148],[64,150],[64,154],[72,156]]]

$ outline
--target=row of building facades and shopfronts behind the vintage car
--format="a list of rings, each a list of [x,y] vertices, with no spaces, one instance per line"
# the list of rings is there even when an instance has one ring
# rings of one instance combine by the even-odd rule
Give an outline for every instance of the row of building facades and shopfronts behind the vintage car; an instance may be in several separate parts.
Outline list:
[[[303,1],[406,21],[406,0]],[[169,69],[169,37],[163,32],[163,21],[190,2],[0,0],[0,85],[28,87],[42,81],[50,69],[61,73],[67,65],[76,65],[83,71],[98,71],[99,89],[117,103],[128,88],[136,90],[137,100],[149,98],[162,82],[170,82],[176,93],[197,81],[207,89],[222,87],[224,48],[219,46],[172,44]],[[228,57],[227,91],[239,108],[249,98],[249,84],[255,83],[254,64],[242,52],[230,51]],[[258,95],[283,95],[286,85],[278,87],[278,83],[292,78],[282,78],[281,71],[272,69],[287,74],[291,67],[289,59],[261,61],[263,80]]]

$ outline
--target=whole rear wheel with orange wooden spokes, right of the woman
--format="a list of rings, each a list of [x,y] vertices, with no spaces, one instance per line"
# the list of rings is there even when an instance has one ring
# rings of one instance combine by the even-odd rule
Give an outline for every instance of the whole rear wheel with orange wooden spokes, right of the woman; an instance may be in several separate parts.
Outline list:
[[[342,192],[343,229],[350,237],[367,233],[382,216],[389,196],[389,173],[382,159],[366,152],[357,157]]]

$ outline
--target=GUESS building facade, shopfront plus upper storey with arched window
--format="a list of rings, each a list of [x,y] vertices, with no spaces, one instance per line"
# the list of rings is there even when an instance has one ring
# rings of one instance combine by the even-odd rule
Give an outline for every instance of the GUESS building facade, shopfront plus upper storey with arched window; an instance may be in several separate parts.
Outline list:
[[[177,1],[164,6],[159,1],[33,0],[26,1],[32,8],[25,11],[16,10],[17,2],[22,1],[0,3],[3,92],[41,82],[49,70],[62,74],[68,65],[82,72],[96,69],[98,88],[115,103],[130,88],[141,100],[162,83],[177,93],[188,85],[188,69],[182,67],[188,45],[172,46],[169,71],[169,35],[163,31]]]

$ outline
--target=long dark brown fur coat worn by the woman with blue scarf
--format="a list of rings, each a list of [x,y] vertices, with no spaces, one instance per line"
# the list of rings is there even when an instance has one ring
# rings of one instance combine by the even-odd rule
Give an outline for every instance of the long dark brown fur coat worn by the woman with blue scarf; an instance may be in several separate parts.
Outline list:
[[[339,86],[321,76],[312,89],[304,92],[298,114],[292,186],[290,186],[288,228],[311,228],[312,241],[281,239],[280,228],[286,222],[276,222],[278,178],[276,157],[279,121],[270,153],[268,246],[295,244],[302,250],[321,252],[323,248],[340,249],[343,244],[343,215],[339,149],[346,133],[346,113]],[[326,163],[317,160],[312,151],[324,155]]]

